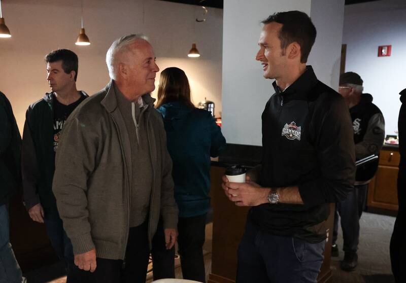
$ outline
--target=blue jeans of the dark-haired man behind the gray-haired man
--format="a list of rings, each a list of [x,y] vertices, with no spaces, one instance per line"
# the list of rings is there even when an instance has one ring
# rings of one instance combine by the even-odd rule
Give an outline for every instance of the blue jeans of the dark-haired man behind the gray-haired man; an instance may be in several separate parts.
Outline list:
[[[66,283],[79,282],[74,275],[74,256],[71,240],[63,229],[62,220],[58,215],[46,215],[44,218],[47,235],[59,259],[64,260]]]

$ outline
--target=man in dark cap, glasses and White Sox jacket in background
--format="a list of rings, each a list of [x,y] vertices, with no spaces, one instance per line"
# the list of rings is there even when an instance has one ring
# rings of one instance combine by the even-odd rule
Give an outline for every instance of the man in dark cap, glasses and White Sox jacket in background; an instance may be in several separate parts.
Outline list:
[[[356,160],[374,154],[379,155],[385,138],[385,120],[382,112],[372,103],[372,95],[362,93],[362,84],[361,77],[356,73],[347,72],[340,76],[339,92],[350,108],[354,128]],[[370,167],[368,170],[371,170],[371,175],[368,178],[372,179],[378,166],[378,160],[367,166]],[[347,199],[336,204],[331,255],[336,257],[339,255],[335,241],[340,214],[344,239],[343,251],[345,252],[341,268],[345,271],[353,270],[358,264],[359,219],[365,207],[370,179],[364,180],[362,175],[357,174],[354,190]]]

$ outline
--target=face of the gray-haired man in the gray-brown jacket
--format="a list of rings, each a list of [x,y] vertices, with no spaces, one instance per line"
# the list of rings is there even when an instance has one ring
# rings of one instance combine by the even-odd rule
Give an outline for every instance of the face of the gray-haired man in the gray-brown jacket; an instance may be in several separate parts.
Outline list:
[[[134,94],[143,95],[155,89],[159,67],[155,63],[154,50],[147,41],[136,41],[128,46],[121,64],[124,65],[127,85],[133,88]]]

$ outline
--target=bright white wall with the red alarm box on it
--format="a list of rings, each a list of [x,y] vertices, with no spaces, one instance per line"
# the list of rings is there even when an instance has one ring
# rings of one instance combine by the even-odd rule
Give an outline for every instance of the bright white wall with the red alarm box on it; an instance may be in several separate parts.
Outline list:
[[[406,88],[406,2],[384,0],[345,8],[343,44],[346,72],[358,73],[364,92],[381,109],[386,134],[395,134],[399,92]],[[378,57],[378,46],[392,45],[390,57]]]

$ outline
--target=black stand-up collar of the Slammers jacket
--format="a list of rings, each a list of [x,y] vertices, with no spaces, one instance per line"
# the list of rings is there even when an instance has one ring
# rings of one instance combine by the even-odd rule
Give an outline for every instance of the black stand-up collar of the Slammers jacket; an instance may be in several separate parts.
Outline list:
[[[318,80],[312,66],[306,66],[304,73],[284,91],[277,86],[276,81],[272,83],[275,92],[289,98],[306,98],[309,91],[317,84]]]

